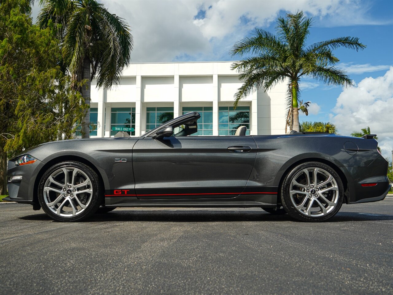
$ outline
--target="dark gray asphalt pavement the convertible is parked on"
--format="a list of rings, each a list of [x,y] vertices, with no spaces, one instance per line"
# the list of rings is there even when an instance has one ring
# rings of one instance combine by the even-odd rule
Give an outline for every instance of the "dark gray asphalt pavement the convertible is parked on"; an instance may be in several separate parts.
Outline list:
[[[0,204],[0,294],[393,294],[393,197],[303,223],[260,208]]]

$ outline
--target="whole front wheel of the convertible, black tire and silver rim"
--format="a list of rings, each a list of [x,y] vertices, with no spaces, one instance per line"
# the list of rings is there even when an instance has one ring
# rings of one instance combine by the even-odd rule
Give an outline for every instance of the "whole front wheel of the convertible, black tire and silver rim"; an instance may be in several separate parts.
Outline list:
[[[77,221],[94,214],[101,204],[97,173],[81,162],[51,166],[42,176],[38,199],[42,209],[59,221]]]

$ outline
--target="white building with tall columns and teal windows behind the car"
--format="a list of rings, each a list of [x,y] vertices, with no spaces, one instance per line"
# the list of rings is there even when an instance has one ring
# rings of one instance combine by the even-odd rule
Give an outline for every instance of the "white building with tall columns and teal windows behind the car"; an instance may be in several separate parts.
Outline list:
[[[284,134],[286,85],[259,89],[233,111],[242,83],[231,63],[137,63],[112,89],[97,89],[93,80],[90,121],[97,129],[90,137],[113,136],[116,126],[133,127],[131,135],[139,136],[189,111],[202,115],[198,135],[230,135],[239,125],[251,135]]]

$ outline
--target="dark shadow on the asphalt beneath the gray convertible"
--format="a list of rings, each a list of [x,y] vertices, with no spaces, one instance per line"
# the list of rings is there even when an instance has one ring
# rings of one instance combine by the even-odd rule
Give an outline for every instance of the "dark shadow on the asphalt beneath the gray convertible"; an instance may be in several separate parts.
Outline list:
[[[23,220],[51,220],[46,214],[20,217]],[[368,214],[359,212],[339,212],[326,222],[393,220],[393,215]],[[103,221],[152,221],[152,222],[233,222],[233,221],[294,221],[288,214],[273,215],[263,211],[239,210],[122,210],[118,208],[104,214],[94,214],[81,222]],[[56,222],[56,221],[55,221]]]

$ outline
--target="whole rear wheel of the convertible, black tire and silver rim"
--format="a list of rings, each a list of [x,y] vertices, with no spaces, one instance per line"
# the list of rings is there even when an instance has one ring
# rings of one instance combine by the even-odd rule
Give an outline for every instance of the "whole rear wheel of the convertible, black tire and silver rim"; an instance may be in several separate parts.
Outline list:
[[[323,221],[340,210],[344,188],[340,176],[321,162],[306,162],[293,168],[281,186],[285,211],[301,221]]]

